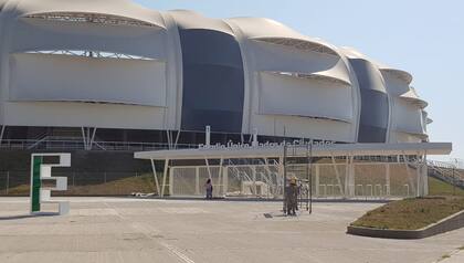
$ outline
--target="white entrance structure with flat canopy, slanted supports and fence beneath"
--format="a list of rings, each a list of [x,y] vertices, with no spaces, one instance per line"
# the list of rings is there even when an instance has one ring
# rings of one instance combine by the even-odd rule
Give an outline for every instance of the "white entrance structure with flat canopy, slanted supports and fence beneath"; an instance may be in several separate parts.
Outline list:
[[[315,197],[388,199],[426,196],[426,157],[451,150],[451,144],[439,143],[211,146],[143,151],[135,158],[151,161],[160,197],[167,188],[170,196],[201,196],[202,182],[209,178],[215,196],[280,198],[285,177],[296,176],[313,181]],[[157,160],[164,161],[161,182],[156,176]],[[179,160],[197,164],[177,165]],[[204,165],[198,165],[199,160]]]

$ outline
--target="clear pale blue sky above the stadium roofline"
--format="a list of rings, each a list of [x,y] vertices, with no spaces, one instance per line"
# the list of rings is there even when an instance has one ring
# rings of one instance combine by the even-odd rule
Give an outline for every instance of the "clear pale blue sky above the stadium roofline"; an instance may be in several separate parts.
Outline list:
[[[430,103],[432,141],[464,159],[464,0],[136,0],[210,18],[265,17],[405,70]]]

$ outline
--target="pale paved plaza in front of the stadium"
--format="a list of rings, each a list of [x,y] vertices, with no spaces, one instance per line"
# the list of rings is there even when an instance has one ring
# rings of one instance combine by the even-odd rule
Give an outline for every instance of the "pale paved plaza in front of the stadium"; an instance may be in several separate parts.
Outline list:
[[[70,215],[30,218],[28,199],[0,198],[0,262],[432,263],[464,245],[464,230],[415,241],[347,235],[376,203],[315,203],[313,215],[285,218],[280,202],[68,200]]]

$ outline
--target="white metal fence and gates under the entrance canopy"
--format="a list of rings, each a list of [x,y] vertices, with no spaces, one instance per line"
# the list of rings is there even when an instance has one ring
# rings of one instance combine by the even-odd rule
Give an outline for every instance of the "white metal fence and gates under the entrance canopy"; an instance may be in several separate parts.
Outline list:
[[[414,197],[418,194],[416,167],[397,162],[354,164],[354,180],[349,180],[346,164],[292,164],[286,166],[287,178],[298,181],[310,178],[310,191],[319,199],[378,200]],[[312,176],[308,177],[308,172]],[[281,199],[284,177],[278,164],[171,167],[171,196],[203,196],[203,185],[212,179],[214,196]]]

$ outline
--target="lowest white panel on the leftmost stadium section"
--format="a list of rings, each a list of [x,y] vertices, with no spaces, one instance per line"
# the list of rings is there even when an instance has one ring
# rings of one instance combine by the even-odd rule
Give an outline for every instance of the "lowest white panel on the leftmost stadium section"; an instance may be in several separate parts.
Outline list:
[[[86,103],[4,103],[6,125],[165,129],[165,108]]]

